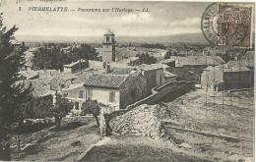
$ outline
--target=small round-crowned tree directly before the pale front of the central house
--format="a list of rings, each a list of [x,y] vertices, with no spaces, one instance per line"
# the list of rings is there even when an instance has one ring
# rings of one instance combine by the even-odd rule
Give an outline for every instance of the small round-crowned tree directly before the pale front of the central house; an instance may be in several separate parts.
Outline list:
[[[86,102],[82,104],[82,114],[93,114],[96,118],[96,126],[99,127],[99,122],[97,116],[100,114],[100,108],[103,106],[102,103],[98,102],[97,100],[92,100],[88,98]]]

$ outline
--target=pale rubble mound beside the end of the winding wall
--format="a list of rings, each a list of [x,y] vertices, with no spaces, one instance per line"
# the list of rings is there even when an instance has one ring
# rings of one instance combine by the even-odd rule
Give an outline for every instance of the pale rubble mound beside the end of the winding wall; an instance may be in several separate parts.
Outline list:
[[[113,118],[109,125],[114,134],[159,137],[161,119],[166,113],[160,105],[141,105]]]

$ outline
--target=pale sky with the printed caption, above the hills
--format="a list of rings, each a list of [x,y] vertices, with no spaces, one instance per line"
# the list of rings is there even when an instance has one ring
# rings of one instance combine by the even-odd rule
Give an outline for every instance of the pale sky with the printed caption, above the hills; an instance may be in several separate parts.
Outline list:
[[[159,36],[200,33],[201,17],[211,3],[2,0],[6,27],[15,36],[102,36],[108,28],[119,36]],[[30,7],[68,7],[69,12],[29,11]],[[135,12],[80,12],[81,9],[126,8]],[[142,12],[148,8],[149,12]],[[19,11],[21,10],[21,11]],[[71,11],[74,10],[74,11]]]

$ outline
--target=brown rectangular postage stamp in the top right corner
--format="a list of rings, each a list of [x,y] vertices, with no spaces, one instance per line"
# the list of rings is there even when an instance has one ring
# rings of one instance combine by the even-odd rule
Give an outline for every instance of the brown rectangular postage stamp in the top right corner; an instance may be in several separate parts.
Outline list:
[[[219,4],[218,45],[251,47],[252,4]]]

